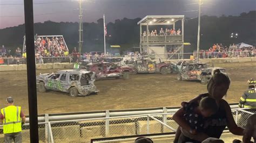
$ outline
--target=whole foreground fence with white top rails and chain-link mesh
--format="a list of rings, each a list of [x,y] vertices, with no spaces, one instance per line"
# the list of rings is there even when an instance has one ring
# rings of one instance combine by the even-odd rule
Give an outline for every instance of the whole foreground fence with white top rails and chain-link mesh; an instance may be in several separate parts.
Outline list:
[[[231,105],[235,122],[244,127],[255,110],[238,109]],[[90,142],[94,138],[167,133],[177,130],[172,120],[179,108],[110,110],[77,113],[46,114],[38,117],[39,139],[42,142]],[[138,111],[139,110],[139,111]],[[1,125],[0,128],[3,126]],[[29,141],[29,123],[23,125],[22,136]],[[2,132],[3,133],[3,132]],[[3,134],[0,134],[0,142]]]

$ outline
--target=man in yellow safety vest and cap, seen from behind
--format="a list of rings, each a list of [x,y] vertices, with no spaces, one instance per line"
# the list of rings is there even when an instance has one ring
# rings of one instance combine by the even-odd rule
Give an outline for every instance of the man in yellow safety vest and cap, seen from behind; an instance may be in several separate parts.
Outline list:
[[[0,119],[3,124],[4,142],[22,142],[22,124],[26,117],[21,106],[14,105],[14,98],[6,98],[7,106],[1,109]]]

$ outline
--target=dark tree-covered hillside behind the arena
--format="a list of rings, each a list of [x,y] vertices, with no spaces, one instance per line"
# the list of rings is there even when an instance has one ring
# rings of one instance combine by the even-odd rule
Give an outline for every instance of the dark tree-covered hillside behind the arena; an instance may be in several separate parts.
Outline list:
[[[139,22],[141,18],[117,19],[108,23],[106,46],[120,45],[122,50],[132,47],[139,47]],[[176,29],[181,23],[177,23]],[[218,44],[238,44],[245,42],[256,45],[256,11],[243,12],[240,16],[202,16],[201,17],[201,37],[200,49],[208,49],[214,43]],[[96,23],[83,23],[83,52],[103,51],[103,19],[98,19]],[[165,27],[150,27],[157,29]],[[35,23],[35,34],[38,35],[63,35],[69,49],[78,47],[78,23],[75,22],[51,22]],[[184,23],[184,40],[190,42],[192,49],[197,47],[198,18],[186,18]],[[231,33],[238,33],[238,38],[231,38]],[[0,45],[10,48],[12,51],[17,46],[22,48],[23,36],[25,34],[24,24],[15,27],[8,27],[0,30]]]

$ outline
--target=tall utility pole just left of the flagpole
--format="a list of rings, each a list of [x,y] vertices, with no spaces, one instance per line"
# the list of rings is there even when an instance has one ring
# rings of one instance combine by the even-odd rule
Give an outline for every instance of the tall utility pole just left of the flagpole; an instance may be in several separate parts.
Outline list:
[[[83,10],[82,10],[82,1],[79,0],[79,45],[78,45],[78,52],[81,54],[81,49],[83,47]],[[80,55],[79,55],[80,57]]]

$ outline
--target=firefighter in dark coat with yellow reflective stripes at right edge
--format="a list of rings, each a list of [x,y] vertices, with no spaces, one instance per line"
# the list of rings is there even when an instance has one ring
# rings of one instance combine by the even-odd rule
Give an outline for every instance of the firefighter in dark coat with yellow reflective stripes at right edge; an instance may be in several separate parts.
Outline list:
[[[252,78],[248,80],[249,89],[247,89],[239,101],[240,108],[250,108],[256,109],[256,91],[255,91],[256,81]]]

